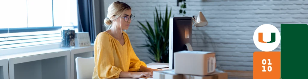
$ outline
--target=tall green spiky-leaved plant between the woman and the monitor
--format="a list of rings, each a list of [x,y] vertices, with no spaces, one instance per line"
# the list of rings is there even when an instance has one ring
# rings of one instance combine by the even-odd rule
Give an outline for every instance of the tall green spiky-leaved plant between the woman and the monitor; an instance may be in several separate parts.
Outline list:
[[[170,13],[168,15],[168,5],[166,6],[166,13],[165,17],[161,17],[161,12],[158,14],[158,11],[156,10],[156,16],[154,14],[154,31],[149,24],[148,21],[146,21],[148,27],[144,26],[140,21],[140,26],[137,26],[140,28],[142,33],[147,37],[146,43],[143,44],[143,46],[140,47],[148,47],[148,53],[151,56],[154,56],[155,59],[152,59],[153,57],[148,56],[151,60],[155,62],[161,62],[161,63],[168,63],[169,61],[169,19],[171,16],[171,9]]]

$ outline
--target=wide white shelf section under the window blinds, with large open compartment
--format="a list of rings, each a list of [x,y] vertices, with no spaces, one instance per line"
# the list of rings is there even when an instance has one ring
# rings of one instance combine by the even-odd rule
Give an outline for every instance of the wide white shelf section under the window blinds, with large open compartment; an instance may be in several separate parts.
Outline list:
[[[0,57],[8,59],[10,79],[71,79],[69,49],[56,48]]]

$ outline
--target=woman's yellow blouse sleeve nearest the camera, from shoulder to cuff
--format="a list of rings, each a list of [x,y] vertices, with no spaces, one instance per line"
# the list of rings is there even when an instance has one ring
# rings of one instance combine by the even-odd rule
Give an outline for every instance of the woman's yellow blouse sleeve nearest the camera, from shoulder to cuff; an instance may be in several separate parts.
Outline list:
[[[97,35],[94,45],[95,67],[98,78],[119,78],[120,68],[114,66],[109,36],[104,33]]]

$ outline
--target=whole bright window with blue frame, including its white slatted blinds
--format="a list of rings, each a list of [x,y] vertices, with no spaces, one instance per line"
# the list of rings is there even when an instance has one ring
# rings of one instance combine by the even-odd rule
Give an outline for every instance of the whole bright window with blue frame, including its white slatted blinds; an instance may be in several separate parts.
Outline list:
[[[59,43],[62,26],[78,26],[76,0],[0,0],[0,11],[0,49]]]

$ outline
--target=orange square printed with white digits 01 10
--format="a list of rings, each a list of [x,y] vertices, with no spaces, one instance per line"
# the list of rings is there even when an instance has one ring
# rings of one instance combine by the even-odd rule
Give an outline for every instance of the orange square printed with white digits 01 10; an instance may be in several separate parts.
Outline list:
[[[253,53],[253,79],[279,79],[280,52]]]

